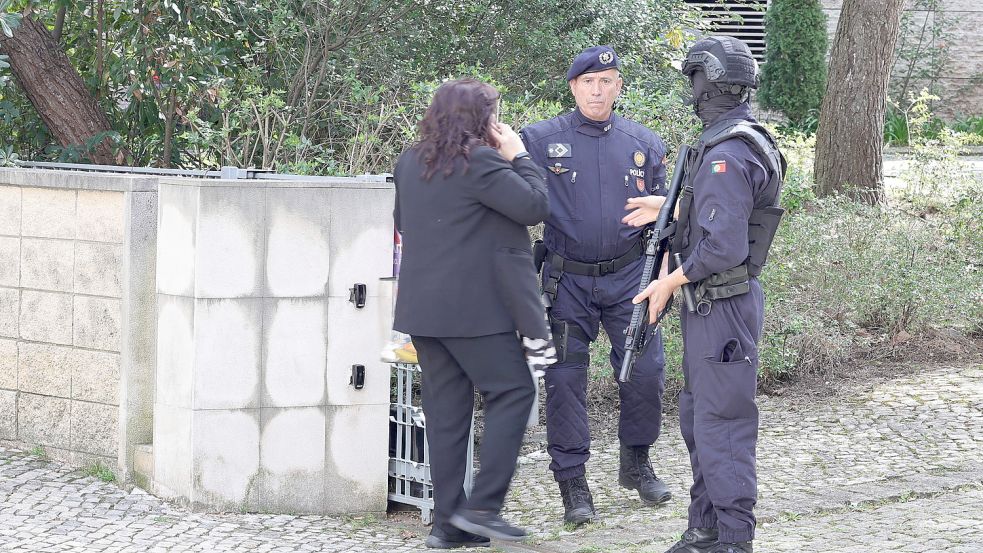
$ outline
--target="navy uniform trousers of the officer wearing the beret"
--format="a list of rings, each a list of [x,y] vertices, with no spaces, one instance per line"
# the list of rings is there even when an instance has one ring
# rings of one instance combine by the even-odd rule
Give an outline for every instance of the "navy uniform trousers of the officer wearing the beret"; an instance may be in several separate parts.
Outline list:
[[[551,315],[555,320],[576,325],[593,341],[598,325],[611,339],[611,366],[614,377],[624,359],[625,328],[631,320],[631,298],[638,293],[644,258],[621,270],[601,277],[563,273],[557,286]],[[549,263],[543,274],[549,274]],[[565,360],[546,369],[546,437],[552,462],[550,469],[558,482],[582,476],[590,457],[590,429],[587,419],[586,356],[590,343],[570,333],[569,354],[584,359]],[[631,380],[618,383],[621,412],[618,438],[628,446],[650,446],[662,427],[662,393],[665,390],[665,357],[662,334],[657,333],[635,365]]]

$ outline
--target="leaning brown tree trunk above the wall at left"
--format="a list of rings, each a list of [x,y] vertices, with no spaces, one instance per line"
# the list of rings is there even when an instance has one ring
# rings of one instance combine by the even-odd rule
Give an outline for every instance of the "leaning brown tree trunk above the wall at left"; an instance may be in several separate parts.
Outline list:
[[[93,136],[110,130],[106,114],[85,87],[68,56],[43,23],[26,15],[13,38],[0,33],[0,52],[9,57],[17,84],[41,120],[62,146],[82,147]],[[86,153],[95,163],[122,162],[108,138]]]

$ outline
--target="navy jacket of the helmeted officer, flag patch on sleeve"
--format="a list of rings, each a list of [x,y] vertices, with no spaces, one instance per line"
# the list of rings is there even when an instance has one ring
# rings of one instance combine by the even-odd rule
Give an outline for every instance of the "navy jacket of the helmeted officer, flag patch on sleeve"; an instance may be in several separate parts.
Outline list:
[[[755,122],[750,106],[741,104],[718,123],[735,119]],[[693,185],[693,202],[683,245],[683,274],[696,282],[747,260],[751,210],[773,205],[775,191],[768,190],[764,160],[740,138],[707,150],[687,179]]]

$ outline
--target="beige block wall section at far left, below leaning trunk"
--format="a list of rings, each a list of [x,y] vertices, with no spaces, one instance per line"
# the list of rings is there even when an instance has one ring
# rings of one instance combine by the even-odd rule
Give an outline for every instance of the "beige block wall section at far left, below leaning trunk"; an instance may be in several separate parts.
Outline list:
[[[0,440],[128,473],[149,440],[156,181],[0,170]]]

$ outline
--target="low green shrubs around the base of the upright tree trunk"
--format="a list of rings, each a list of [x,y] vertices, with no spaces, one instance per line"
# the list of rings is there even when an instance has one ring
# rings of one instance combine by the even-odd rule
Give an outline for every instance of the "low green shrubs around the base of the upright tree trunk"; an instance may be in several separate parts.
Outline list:
[[[779,228],[761,280],[764,380],[828,372],[899,332],[983,321],[983,179],[956,152],[975,135],[938,130],[931,96],[904,112],[912,158],[890,205],[811,194],[814,138],[780,137],[789,161]]]

